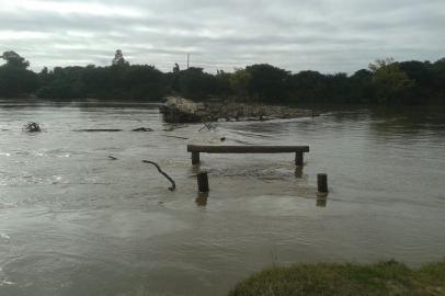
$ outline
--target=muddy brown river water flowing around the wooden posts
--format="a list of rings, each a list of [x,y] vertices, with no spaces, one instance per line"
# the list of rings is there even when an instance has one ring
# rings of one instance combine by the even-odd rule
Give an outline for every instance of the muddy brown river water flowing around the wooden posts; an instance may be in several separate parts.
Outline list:
[[[44,132],[23,133],[31,121]],[[152,104],[0,101],[0,295],[226,295],[272,264],[445,257],[443,109],[199,129]],[[293,155],[202,155],[198,196],[185,147],[221,137],[310,152],[301,172]]]

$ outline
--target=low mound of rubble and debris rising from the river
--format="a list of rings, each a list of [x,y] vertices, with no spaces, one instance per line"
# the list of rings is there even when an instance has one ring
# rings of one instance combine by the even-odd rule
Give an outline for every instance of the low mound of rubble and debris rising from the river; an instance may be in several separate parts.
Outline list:
[[[287,106],[219,102],[212,100],[196,103],[184,98],[167,98],[160,106],[163,119],[168,123],[208,123],[226,121],[269,121],[276,118],[298,118],[318,116],[313,110]]]

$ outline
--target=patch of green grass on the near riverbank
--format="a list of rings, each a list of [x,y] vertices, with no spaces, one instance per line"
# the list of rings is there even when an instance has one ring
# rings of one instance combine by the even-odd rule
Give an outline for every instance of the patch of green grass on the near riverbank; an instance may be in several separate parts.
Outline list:
[[[229,296],[445,295],[445,260],[411,270],[396,261],[271,267],[237,284]]]

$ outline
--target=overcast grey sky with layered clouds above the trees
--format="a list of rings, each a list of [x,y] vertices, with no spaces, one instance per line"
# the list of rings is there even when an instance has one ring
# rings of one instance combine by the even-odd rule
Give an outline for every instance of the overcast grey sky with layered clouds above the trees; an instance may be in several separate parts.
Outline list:
[[[43,66],[130,64],[209,72],[269,62],[353,72],[445,56],[445,0],[0,0],[0,52]]]

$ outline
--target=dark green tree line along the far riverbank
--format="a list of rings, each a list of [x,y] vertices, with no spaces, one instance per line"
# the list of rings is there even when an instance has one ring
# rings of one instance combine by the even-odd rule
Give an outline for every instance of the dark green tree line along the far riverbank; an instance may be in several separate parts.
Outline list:
[[[233,99],[275,104],[445,104],[445,58],[431,61],[381,59],[353,75],[300,71],[267,64],[218,70],[203,68],[170,72],[155,66],[130,65],[116,50],[110,66],[55,67],[34,72],[14,52],[0,56],[0,98],[41,100],[148,100],[166,95],[190,99]]]

